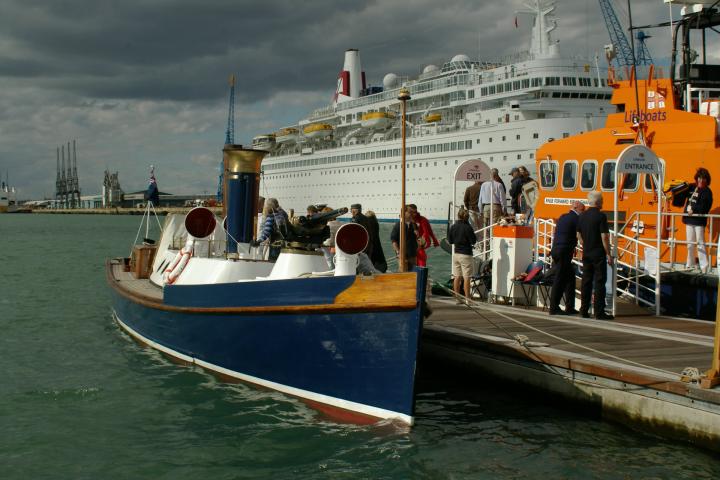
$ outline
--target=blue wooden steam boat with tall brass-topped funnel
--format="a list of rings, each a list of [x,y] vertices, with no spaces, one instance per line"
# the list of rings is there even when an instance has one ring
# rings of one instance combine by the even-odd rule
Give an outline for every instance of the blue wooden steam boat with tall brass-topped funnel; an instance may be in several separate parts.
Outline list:
[[[245,185],[256,188],[251,174],[257,169],[248,164],[261,153],[236,146],[224,152],[226,183],[248,174]],[[257,198],[242,185],[226,191]],[[233,202],[226,201],[226,222],[202,208],[184,219],[168,216],[158,245],[137,246],[130,259],[107,262],[117,323],[174,359],[284,392],[334,419],[412,424],[426,270],[333,272],[313,243],[322,221],[309,225],[307,219],[309,226],[295,227],[280,258],[269,262],[255,251],[248,225],[257,204],[235,208]],[[345,245],[352,259],[364,243],[348,238],[338,237],[338,250]],[[182,272],[172,283],[166,273],[163,281],[178,257],[187,258]]]

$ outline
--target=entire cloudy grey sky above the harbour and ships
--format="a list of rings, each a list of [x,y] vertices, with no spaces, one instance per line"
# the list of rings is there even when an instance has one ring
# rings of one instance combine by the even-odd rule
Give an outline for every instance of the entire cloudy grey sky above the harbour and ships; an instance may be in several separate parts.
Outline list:
[[[528,0],[532,1],[532,0]],[[225,138],[227,78],[238,77],[236,143],[329,102],[343,52],[370,84],[416,76],[458,53],[492,60],[527,48],[521,0],[0,0],[0,172],[20,198],[54,195],[56,147],[77,140],[83,195],[105,169],[125,191],[212,193]],[[616,0],[627,23],[626,1]],[[636,24],[667,20],[633,0]],[[677,15],[677,12],[675,12]],[[608,43],[597,0],[557,0],[563,53]],[[651,53],[667,55],[666,29]]]

